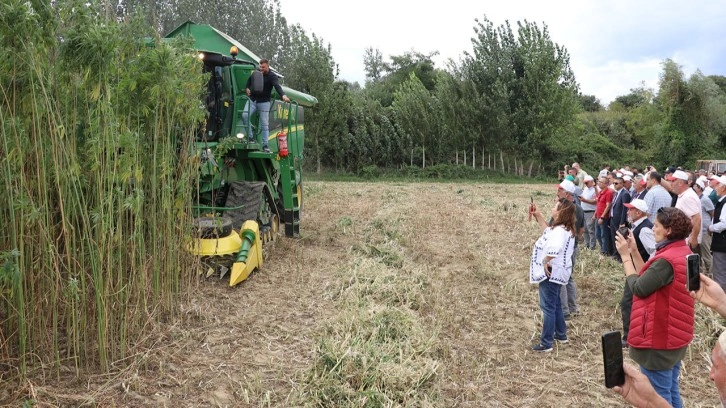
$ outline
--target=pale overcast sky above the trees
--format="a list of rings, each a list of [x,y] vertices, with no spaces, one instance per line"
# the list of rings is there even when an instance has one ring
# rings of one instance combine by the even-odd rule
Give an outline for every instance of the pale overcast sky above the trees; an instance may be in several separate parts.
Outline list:
[[[726,0],[280,0],[290,24],[332,47],[340,78],[365,83],[365,49],[384,60],[414,50],[438,51],[437,67],[471,51],[474,19],[546,24],[570,53],[580,91],[607,105],[642,83],[658,87],[671,58],[687,76],[726,75]]]

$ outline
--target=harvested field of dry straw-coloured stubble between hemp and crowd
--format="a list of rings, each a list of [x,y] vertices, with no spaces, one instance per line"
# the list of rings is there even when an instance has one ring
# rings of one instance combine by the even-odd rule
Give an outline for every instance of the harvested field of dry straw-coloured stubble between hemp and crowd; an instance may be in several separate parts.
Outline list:
[[[620,330],[622,272],[581,252],[570,343],[530,351],[541,315],[528,283],[530,195],[549,185],[305,185],[303,236],[267,250],[230,289],[207,280],[115,375],[35,378],[48,406],[612,407],[600,335]],[[721,321],[697,306],[686,406],[716,406],[708,379]],[[627,354],[626,354],[626,360]],[[17,393],[15,394],[18,395]]]

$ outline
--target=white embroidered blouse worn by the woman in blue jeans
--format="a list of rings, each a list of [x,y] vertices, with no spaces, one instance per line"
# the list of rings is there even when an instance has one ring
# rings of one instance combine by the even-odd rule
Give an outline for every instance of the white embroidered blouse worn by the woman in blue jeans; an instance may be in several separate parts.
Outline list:
[[[534,243],[532,260],[529,263],[529,283],[540,283],[547,280],[544,270],[544,259],[550,260],[552,273],[550,282],[566,285],[572,274],[572,252],[575,250],[575,237],[562,225],[547,227],[542,236]]]

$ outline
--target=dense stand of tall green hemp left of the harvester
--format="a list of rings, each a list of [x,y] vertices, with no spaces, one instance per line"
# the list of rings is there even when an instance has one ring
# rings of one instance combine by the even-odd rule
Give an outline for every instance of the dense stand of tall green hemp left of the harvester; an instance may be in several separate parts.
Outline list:
[[[0,358],[108,370],[189,282],[201,69],[92,3],[2,7]]]

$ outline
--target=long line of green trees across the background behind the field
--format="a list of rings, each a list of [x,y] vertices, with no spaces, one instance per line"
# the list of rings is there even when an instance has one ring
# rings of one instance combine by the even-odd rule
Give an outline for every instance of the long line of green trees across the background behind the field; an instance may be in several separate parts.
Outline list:
[[[550,174],[574,161],[662,167],[725,153],[725,77],[686,78],[664,60],[658,89],[633,89],[606,108],[580,93],[569,53],[546,24],[496,26],[483,16],[472,27],[472,52],[445,67],[436,67],[436,52],[384,58],[369,48],[361,56],[366,81],[358,84],[339,78],[335,44],[288,24],[278,0],[103,4],[117,19],[146,16],[159,35],[186,20],[210,24],[271,59],[285,85],[320,101],[306,112],[306,165],[318,172],[493,167],[498,157],[500,168],[506,158]]]

